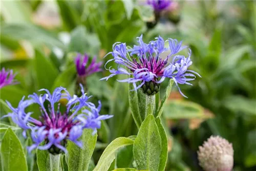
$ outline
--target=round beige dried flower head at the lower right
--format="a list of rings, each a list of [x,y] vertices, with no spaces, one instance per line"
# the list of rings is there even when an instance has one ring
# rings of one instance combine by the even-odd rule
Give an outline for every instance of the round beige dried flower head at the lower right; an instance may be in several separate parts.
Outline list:
[[[219,136],[211,136],[199,146],[199,164],[206,171],[231,171],[233,153],[231,143]]]

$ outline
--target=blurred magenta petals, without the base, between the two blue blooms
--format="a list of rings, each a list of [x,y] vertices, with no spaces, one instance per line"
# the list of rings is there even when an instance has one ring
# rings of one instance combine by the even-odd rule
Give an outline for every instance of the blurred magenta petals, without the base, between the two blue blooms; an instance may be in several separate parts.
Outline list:
[[[78,53],[75,58],[75,65],[77,74],[79,76],[89,76],[95,72],[101,71],[100,66],[102,65],[102,62],[96,62],[96,57],[93,58],[90,65],[88,65],[89,56],[87,54],[80,54]]]

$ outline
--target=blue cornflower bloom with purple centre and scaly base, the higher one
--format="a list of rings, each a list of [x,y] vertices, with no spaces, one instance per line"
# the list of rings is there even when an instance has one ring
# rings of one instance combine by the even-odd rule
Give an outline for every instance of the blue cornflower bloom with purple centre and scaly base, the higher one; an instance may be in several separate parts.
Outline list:
[[[194,80],[197,72],[188,70],[192,65],[190,59],[191,51],[189,49],[188,57],[177,55],[178,52],[187,48],[182,46],[182,41],[178,42],[176,39],[169,38],[168,48],[164,47],[165,41],[161,36],[156,37],[156,40],[145,44],[142,40],[142,35],[138,38],[139,45],[134,45],[132,49],[128,49],[125,43],[116,42],[113,45],[112,54],[114,57],[105,64],[108,65],[110,61],[118,64],[117,70],[110,67],[111,75],[101,78],[101,80],[108,80],[115,75],[124,74],[129,75],[130,78],[118,80],[119,82],[133,83],[134,90],[142,87],[142,91],[147,95],[154,95],[159,91],[159,83],[165,78],[173,79],[176,83],[181,95],[186,97],[180,90],[179,84],[189,84],[188,81]],[[170,51],[165,58],[160,55],[163,52]],[[173,59],[169,62],[169,59]],[[196,75],[195,75],[196,74]]]

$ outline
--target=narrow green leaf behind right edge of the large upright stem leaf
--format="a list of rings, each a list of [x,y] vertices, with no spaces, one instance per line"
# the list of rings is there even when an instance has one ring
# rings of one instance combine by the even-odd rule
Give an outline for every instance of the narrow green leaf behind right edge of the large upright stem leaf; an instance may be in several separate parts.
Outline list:
[[[158,126],[158,131],[160,133],[161,137],[161,144],[162,144],[162,149],[161,149],[161,156],[160,156],[160,162],[159,162],[159,167],[158,170],[161,171],[165,169],[165,165],[167,162],[167,157],[168,157],[168,140],[167,140],[167,135],[165,133],[164,127],[161,123],[161,118],[158,116],[156,117],[156,123]]]

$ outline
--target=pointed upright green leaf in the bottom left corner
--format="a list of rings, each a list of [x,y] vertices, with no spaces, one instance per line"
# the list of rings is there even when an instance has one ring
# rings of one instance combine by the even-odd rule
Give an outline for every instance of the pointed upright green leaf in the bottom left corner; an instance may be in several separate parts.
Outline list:
[[[18,137],[9,128],[3,137],[1,144],[1,162],[5,171],[27,171],[26,156]]]

